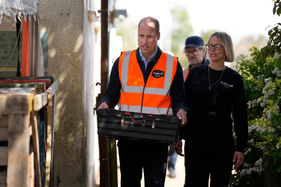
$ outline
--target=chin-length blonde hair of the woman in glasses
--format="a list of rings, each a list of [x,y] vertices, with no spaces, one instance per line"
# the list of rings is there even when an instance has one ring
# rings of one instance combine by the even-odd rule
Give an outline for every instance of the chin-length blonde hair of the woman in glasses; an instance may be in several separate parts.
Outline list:
[[[226,62],[233,62],[235,60],[234,50],[233,50],[233,44],[232,39],[226,32],[214,32],[210,35],[209,40],[207,44],[209,43],[211,37],[216,36],[217,39],[222,43],[222,45],[225,47],[225,61]],[[205,51],[205,57],[207,55],[207,50]]]

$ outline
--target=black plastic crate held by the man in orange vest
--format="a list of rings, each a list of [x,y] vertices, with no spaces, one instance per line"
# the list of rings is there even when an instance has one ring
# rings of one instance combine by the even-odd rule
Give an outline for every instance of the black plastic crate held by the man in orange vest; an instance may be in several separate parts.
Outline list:
[[[116,139],[178,143],[178,117],[99,109],[97,134]]]

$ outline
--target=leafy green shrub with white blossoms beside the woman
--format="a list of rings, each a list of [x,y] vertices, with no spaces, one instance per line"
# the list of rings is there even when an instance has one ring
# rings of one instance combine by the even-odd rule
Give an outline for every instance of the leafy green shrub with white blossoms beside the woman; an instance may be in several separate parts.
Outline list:
[[[273,14],[281,14],[274,0]],[[230,186],[281,186],[281,24],[268,31],[267,46],[252,47],[251,59],[236,58],[248,99],[249,141],[244,165]],[[259,158],[259,159],[258,159]]]

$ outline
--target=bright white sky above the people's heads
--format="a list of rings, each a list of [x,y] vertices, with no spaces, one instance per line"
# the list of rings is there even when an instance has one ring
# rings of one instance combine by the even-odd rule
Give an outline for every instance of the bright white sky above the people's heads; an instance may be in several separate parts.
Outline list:
[[[162,36],[165,35],[163,28],[169,27],[172,22],[169,8],[175,3],[187,8],[194,35],[208,30],[225,31],[234,43],[243,36],[262,34],[267,37],[265,28],[281,22],[281,17],[273,15],[272,0],[116,0],[115,8],[127,9],[128,16],[136,24],[146,16],[157,18]]]

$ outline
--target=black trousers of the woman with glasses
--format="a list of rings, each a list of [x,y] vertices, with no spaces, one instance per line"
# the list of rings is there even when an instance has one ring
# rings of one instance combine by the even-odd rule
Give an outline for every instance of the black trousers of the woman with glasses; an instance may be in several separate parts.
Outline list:
[[[186,146],[184,187],[227,187],[233,167],[235,146]]]

